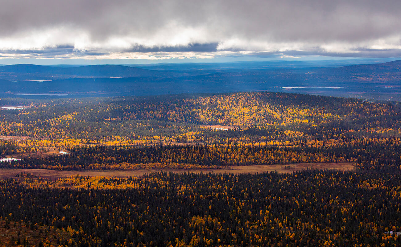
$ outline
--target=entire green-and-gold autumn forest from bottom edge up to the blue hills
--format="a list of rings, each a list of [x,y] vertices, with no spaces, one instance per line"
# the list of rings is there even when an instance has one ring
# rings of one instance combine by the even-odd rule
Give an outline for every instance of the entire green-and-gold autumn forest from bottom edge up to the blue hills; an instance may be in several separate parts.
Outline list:
[[[12,108],[0,108],[0,247],[401,245],[398,102],[246,92],[0,107]],[[121,175],[132,170],[152,172]]]

